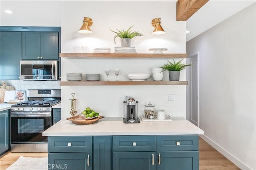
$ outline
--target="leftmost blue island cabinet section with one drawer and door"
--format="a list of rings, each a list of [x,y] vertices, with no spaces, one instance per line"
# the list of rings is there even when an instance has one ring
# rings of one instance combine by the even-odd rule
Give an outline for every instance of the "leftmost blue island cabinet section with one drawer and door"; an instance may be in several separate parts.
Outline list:
[[[48,137],[48,169],[92,170],[92,136]]]

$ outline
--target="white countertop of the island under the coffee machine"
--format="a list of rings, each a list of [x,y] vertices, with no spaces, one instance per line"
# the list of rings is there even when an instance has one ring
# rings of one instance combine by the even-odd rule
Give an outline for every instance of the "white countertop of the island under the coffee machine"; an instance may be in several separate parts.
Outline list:
[[[121,117],[103,118],[91,125],[75,125],[61,120],[43,132],[43,136],[103,136],[103,135],[202,135],[199,129],[183,117],[173,121],[125,124]]]

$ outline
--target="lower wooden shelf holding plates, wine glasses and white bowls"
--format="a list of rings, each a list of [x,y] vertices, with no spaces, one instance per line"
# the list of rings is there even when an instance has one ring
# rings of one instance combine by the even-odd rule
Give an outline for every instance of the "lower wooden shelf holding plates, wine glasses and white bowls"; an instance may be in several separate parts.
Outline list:
[[[187,81],[62,81],[60,86],[141,86],[141,85],[188,85]]]

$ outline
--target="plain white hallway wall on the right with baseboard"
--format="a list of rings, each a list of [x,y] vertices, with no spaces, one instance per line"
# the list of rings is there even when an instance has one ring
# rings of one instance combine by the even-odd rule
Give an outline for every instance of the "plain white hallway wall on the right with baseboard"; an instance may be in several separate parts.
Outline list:
[[[240,168],[256,169],[256,4],[187,42],[200,52],[200,129]]]

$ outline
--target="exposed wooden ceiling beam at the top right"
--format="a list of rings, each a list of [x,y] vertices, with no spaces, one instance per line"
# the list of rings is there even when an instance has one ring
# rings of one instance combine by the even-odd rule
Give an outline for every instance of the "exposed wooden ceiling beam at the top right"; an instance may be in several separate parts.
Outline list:
[[[209,0],[178,0],[176,2],[176,20],[186,21],[197,10],[199,10]]]

